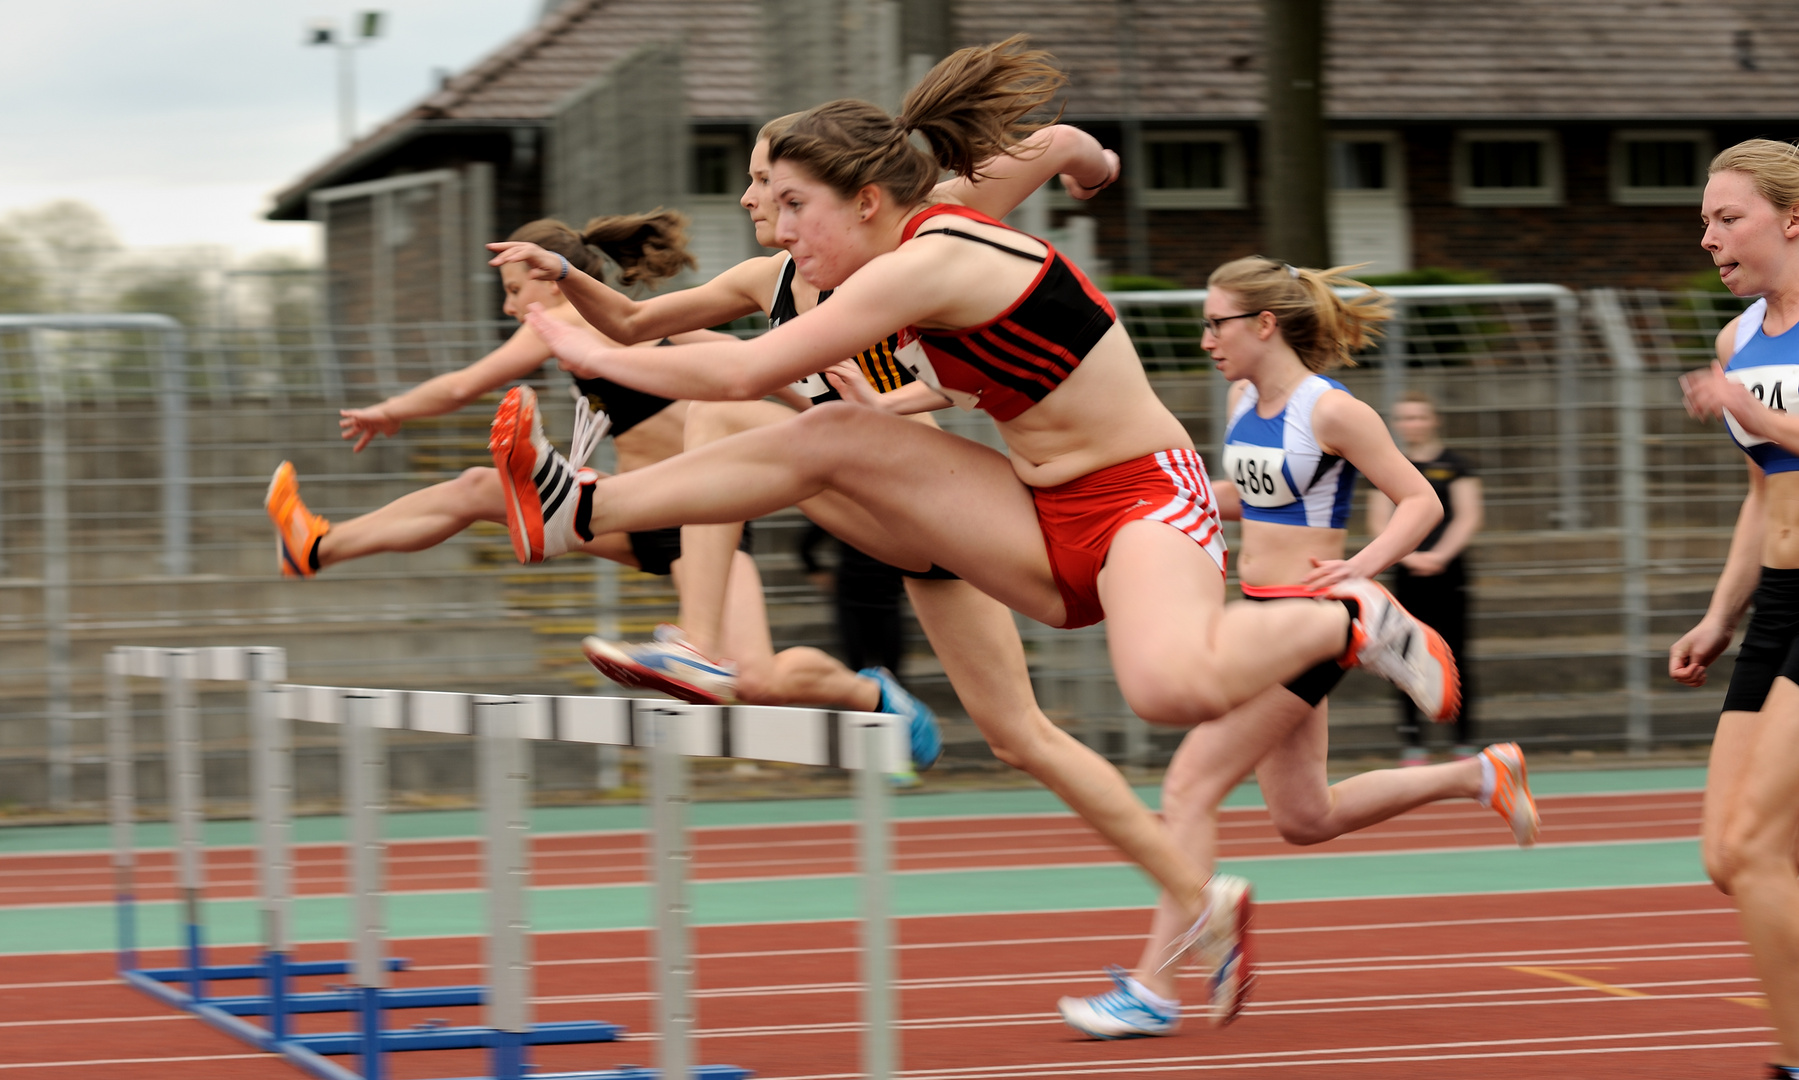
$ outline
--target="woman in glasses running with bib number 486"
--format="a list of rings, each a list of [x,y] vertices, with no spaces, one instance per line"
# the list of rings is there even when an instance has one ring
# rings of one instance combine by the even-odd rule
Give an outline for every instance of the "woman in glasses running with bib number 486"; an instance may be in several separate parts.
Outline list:
[[[1371,578],[1407,556],[1441,518],[1437,497],[1380,416],[1320,374],[1365,346],[1374,324],[1387,319],[1378,293],[1344,301],[1333,290],[1356,283],[1340,270],[1301,270],[1263,257],[1225,263],[1207,284],[1202,344],[1232,380],[1223,446],[1229,482],[1222,479],[1216,490],[1222,513],[1243,520],[1243,596],[1319,596],[1335,581]],[[1394,511],[1380,536],[1344,558],[1358,470]],[[1232,515],[1232,502],[1240,515]],[[1162,817],[1205,873],[1218,855],[1218,808],[1252,769],[1275,826],[1295,844],[1454,797],[1499,808],[1520,844],[1535,839],[1536,808],[1515,743],[1490,747],[1479,760],[1364,772],[1331,785],[1324,772],[1326,695],[1342,675],[1340,664],[1324,661],[1182,740],[1162,781]],[[1213,880],[1241,882],[1231,875]],[[1247,882],[1231,893],[1234,922],[1245,925]],[[1137,968],[1112,968],[1117,986],[1108,994],[1063,997],[1063,1019],[1099,1039],[1173,1033],[1178,965],[1168,958],[1184,929],[1180,914],[1164,900]],[[1214,1024],[1238,1013],[1254,977],[1249,943],[1238,938],[1220,934],[1222,947],[1209,958]]]

